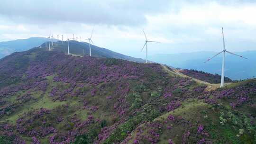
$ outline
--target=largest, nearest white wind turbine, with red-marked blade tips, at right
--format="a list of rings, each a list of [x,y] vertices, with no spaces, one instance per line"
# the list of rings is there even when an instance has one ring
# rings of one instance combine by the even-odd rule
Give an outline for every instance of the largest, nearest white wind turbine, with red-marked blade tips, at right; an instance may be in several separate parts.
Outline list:
[[[225,41],[224,41],[223,27],[222,27],[222,39],[223,39],[223,51],[219,52],[218,54],[214,55],[213,57],[211,57],[210,59],[208,59],[207,61],[204,62],[204,63],[206,63],[206,62],[210,61],[212,58],[214,58],[215,56],[223,53],[220,88],[222,88],[224,86],[224,69],[225,69],[225,55],[226,55],[226,52],[229,53],[229,54],[233,54],[233,55],[239,56],[241,58],[247,59],[247,58],[245,58],[245,57],[243,57],[241,55],[234,54],[234,53],[231,53],[231,52],[226,50],[226,48],[225,48]]]

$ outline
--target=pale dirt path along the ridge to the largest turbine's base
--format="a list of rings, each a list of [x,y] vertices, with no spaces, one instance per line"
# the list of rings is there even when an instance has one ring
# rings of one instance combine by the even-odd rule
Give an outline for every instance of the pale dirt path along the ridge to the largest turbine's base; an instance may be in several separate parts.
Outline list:
[[[190,76],[187,76],[187,75],[183,74],[182,72],[180,72],[177,69],[173,69],[173,71],[172,71],[172,70],[169,70],[167,68],[167,66],[165,66],[165,65],[162,65],[162,66],[163,66],[165,71],[169,72],[172,75],[174,74],[174,75],[178,75],[178,76],[181,76],[181,77],[190,78],[190,79],[192,79],[192,80],[194,80],[194,81],[196,81],[198,83],[202,83],[202,84],[207,85],[207,88],[205,89],[207,91],[216,90],[216,89],[218,89],[220,87],[220,84],[215,84],[215,83],[209,83],[209,82],[206,82],[206,81],[201,81],[201,80],[192,78]],[[231,83],[225,83],[225,85],[229,85],[229,84],[231,84]]]

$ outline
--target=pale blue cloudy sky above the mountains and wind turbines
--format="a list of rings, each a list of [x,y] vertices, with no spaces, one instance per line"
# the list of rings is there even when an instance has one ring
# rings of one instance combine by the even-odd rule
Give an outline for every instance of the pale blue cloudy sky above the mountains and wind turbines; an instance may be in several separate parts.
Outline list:
[[[136,57],[256,50],[256,0],[1,0],[0,41],[57,34]],[[84,40],[85,41],[85,40]]]

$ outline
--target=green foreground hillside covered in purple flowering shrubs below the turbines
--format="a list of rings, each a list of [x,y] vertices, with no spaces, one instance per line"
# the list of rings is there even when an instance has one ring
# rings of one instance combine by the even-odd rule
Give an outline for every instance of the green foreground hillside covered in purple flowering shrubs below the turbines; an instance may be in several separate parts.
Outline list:
[[[32,49],[0,60],[0,144],[255,144],[256,80]]]

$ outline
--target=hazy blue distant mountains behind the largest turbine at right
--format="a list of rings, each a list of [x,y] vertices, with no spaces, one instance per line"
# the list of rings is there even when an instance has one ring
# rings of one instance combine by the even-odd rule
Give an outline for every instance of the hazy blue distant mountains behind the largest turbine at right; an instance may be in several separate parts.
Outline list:
[[[195,69],[198,71],[221,74],[222,55],[204,63],[215,52],[196,52],[183,54],[155,54],[150,59],[157,63],[164,63],[181,69]],[[236,54],[247,57],[248,60],[227,54],[225,76],[232,80],[253,78],[256,76],[256,51],[238,52]]]

